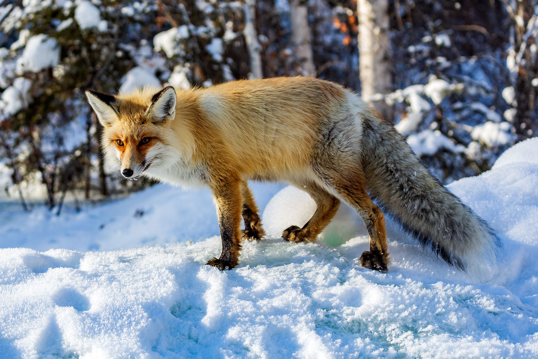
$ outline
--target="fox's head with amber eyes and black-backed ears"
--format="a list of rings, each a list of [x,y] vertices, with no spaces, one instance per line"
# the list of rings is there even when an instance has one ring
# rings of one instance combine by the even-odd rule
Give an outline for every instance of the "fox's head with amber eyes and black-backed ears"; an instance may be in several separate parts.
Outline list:
[[[103,126],[105,158],[119,165],[123,177],[136,180],[165,160],[163,130],[174,120],[177,101],[172,86],[119,96],[88,90],[86,97]]]

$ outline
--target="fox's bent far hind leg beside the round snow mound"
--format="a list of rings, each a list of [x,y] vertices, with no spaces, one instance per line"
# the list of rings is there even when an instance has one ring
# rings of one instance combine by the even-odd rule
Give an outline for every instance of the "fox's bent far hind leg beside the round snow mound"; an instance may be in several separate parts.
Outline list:
[[[314,182],[310,182],[306,187],[298,186],[298,188],[306,191],[316,202],[316,212],[302,228],[298,226],[286,228],[282,233],[282,238],[289,242],[312,242],[335,216],[340,201]]]

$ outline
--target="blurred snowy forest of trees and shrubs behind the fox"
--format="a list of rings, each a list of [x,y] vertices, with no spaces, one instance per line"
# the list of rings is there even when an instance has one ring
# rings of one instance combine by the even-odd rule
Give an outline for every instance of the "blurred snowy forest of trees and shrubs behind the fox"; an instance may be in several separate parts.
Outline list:
[[[310,75],[356,90],[445,183],[535,136],[538,0],[3,0],[0,186],[23,206],[109,173],[88,88]]]

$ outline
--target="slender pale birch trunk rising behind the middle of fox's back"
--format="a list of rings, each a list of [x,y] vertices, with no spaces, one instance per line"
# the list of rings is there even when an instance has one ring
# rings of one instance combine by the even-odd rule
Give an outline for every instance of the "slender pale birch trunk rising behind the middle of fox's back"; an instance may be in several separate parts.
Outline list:
[[[308,9],[303,0],[291,0],[289,11],[292,18],[292,41],[295,47],[295,56],[303,72],[316,77],[316,67],[310,45],[310,26],[308,26]]]

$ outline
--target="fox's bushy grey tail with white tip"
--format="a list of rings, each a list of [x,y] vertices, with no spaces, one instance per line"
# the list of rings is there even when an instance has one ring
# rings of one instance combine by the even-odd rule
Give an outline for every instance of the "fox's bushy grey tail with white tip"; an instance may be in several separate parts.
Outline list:
[[[495,231],[424,167],[392,125],[367,118],[362,133],[369,194],[419,242],[465,270],[501,247]]]

